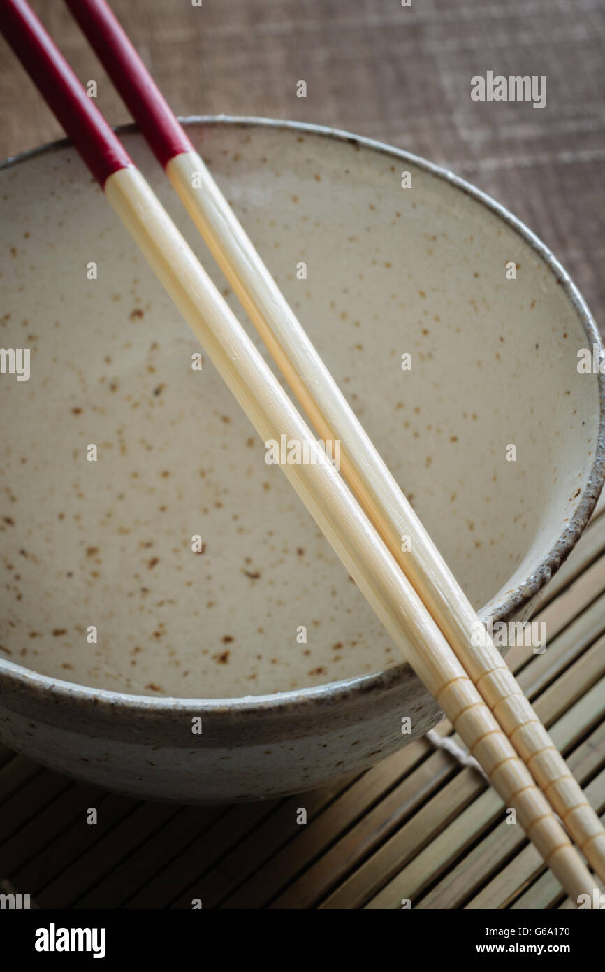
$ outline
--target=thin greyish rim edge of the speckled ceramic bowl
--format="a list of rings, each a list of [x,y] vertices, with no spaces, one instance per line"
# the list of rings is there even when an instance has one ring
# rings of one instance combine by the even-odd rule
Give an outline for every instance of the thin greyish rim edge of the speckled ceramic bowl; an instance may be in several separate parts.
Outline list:
[[[288,121],[255,116],[222,114],[179,116],[179,121],[187,127],[224,125],[226,127],[244,128],[254,126],[258,128],[286,129],[303,134],[319,135],[335,141],[347,142],[357,148],[370,149],[373,152],[378,152],[391,158],[398,158],[401,161],[411,163],[438,179],[442,179],[456,189],[463,191],[471,199],[485,206],[489,212],[497,216],[507,226],[514,229],[534,250],[553,273],[556,282],[569,299],[584,327],[589,344],[597,345],[599,361],[602,361],[605,357],[603,342],[584,297],[580,294],[561,263],[556,260],[549,247],[505,206],[493,199],[487,192],[477,189],[477,187],[468,183],[465,179],[455,175],[450,169],[437,165],[435,162],[428,161],[422,156],[416,156],[404,149],[388,145],[386,142],[367,138],[363,135],[355,135],[353,132],[344,129],[332,128],[327,125],[319,125],[305,121]],[[115,126],[114,130],[119,135],[136,133],[139,131],[139,128],[134,122],[128,122]],[[28,161],[31,158],[59,152],[68,148],[74,148],[72,142],[68,138],[62,138],[33,149],[28,149],[0,161],[0,171],[12,168],[18,163]],[[598,434],[594,450],[594,460],[585,490],[579,498],[573,514],[569,517],[565,529],[549,553],[520,585],[507,592],[506,597],[495,604],[488,602],[484,608],[478,611],[478,615],[483,620],[489,616],[493,622],[506,621],[513,613],[518,612],[520,608],[531,601],[569,556],[588,524],[588,520],[599,498],[605,480],[605,373],[599,371],[597,374],[597,382],[599,391]],[[489,608],[487,613],[485,613],[486,608]],[[143,714],[143,712],[214,712],[218,714],[221,711],[232,714],[235,710],[245,712],[247,715],[252,715],[253,713],[266,715],[268,712],[291,711],[292,707],[297,708],[298,706],[304,706],[308,709],[310,703],[332,705],[338,699],[351,699],[352,695],[355,696],[358,693],[374,693],[376,690],[394,688],[397,683],[409,677],[410,668],[407,662],[402,662],[386,671],[367,676],[339,679],[314,687],[292,689],[285,692],[272,692],[267,695],[199,699],[173,696],[154,697],[118,692],[114,689],[93,688],[92,686],[83,685],[79,682],[70,682],[61,678],[42,675],[33,669],[0,658],[0,675],[4,674],[11,680],[17,681],[25,691],[29,690],[35,694],[40,693],[45,696],[50,694],[55,697],[56,702],[59,701],[59,698],[65,702],[69,701],[72,703],[93,701],[95,706],[98,707],[103,703],[111,707],[113,712],[116,712],[118,709],[140,712],[140,714]]]

